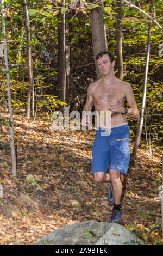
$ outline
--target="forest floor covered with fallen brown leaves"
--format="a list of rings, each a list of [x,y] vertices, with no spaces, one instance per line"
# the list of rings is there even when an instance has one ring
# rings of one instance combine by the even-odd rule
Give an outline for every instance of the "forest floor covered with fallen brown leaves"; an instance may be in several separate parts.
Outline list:
[[[11,171],[9,130],[1,129],[0,245],[34,245],[66,224],[108,222],[112,209],[107,200],[109,184],[97,184],[91,174],[96,132],[53,131],[46,121],[27,122],[23,114],[14,120],[17,178]],[[129,167],[123,184],[122,225],[156,244],[161,231],[151,232],[150,227],[161,221],[161,156],[155,150],[149,155],[139,149],[136,163],[135,168]]]

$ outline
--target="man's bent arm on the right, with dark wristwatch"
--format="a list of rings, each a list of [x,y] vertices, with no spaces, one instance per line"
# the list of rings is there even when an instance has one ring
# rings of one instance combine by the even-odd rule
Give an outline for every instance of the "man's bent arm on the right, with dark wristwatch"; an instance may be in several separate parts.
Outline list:
[[[128,117],[137,117],[137,118],[139,118],[140,117],[139,111],[138,111],[137,104],[136,104],[136,101],[135,101],[133,88],[131,87],[130,83],[126,84],[126,100],[127,100],[128,105],[129,105],[129,108],[127,108]]]

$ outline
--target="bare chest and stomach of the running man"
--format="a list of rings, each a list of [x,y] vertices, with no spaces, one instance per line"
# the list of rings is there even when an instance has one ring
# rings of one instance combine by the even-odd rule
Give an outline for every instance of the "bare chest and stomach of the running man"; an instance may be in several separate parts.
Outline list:
[[[126,82],[115,78],[112,84],[102,83],[102,79],[92,83],[92,97],[95,110],[99,113],[109,111],[110,105],[124,107],[126,100]],[[111,127],[127,124],[126,115],[111,114]],[[99,124],[99,126],[101,126]],[[102,127],[102,126],[101,126]]]

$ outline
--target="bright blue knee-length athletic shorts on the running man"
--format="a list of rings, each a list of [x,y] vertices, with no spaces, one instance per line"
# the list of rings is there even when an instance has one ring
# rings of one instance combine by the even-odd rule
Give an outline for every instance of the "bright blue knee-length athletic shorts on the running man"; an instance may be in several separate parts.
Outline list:
[[[98,129],[92,149],[92,175],[107,173],[108,167],[126,174],[130,161],[128,124]]]

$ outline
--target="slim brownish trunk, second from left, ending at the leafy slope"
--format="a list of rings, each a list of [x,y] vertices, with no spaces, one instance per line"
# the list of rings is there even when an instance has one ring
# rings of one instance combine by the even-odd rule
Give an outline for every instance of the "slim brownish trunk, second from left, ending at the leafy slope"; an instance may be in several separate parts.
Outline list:
[[[33,88],[33,71],[32,71],[32,54],[31,54],[31,45],[30,45],[30,26],[29,26],[29,12],[27,8],[26,0],[23,0],[23,13],[25,17],[25,26],[27,32],[27,72],[28,72],[28,89],[27,89],[27,106],[26,114],[27,120],[30,119],[30,98],[31,91]]]

